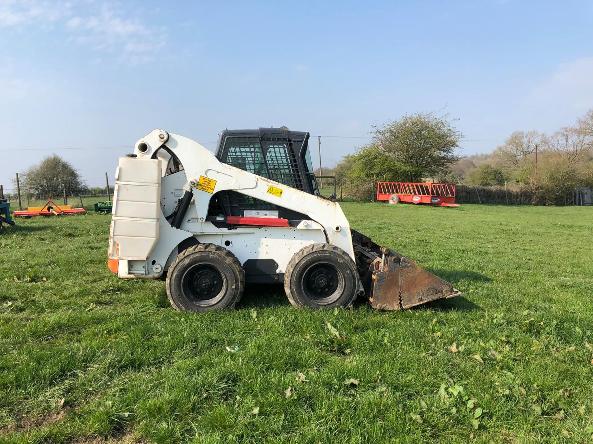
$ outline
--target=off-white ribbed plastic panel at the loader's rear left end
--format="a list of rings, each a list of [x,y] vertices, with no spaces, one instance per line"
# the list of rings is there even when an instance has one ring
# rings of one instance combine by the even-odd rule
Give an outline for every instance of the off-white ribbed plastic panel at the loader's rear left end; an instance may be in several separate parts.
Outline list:
[[[161,160],[120,157],[113,193],[110,259],[143,260],[158,240]]]

